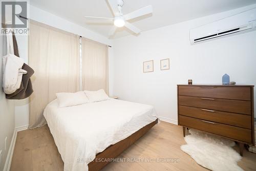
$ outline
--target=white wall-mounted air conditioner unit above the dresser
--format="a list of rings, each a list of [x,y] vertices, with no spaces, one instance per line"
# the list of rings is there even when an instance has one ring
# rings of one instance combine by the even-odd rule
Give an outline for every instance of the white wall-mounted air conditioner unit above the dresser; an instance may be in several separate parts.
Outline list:
[[[191,45],[256,30],[256,8],[189,30]]]

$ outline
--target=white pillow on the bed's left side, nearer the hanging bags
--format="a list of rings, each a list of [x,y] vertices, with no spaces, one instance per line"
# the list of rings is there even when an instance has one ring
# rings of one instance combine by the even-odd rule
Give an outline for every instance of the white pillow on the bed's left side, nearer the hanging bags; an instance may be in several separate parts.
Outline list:
[[[88,103],[89,99],[83,91],[76,93],[56,93],[59,108],[68,107],[72,105],[79,105],[83,103]]]

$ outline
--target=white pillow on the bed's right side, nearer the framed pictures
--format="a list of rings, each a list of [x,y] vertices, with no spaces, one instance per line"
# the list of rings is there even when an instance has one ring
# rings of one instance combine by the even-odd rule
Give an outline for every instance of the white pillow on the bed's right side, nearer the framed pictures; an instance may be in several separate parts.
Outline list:
[[[90,102],[96,102],[96,101],[103,101],[103,100],[109,100],[109,96],[106,95],[105,91],[103,89],[100,89],[98,91],[84,91],[86,93],[86,96],[89,98]]]

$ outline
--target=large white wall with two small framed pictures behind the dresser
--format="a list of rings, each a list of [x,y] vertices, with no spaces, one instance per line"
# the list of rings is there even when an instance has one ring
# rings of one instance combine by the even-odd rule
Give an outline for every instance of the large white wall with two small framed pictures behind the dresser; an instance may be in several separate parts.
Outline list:
[[[255,7],[256,4],[142,32],[137,37],[115,39],[113,94],[154,105],[162,119],[175,123],[177,84],[187,84],[188,79],[193,83],[222,83],[222,75],[227,73],[231,81],[255,85],[256,31],[194,46],[189,43],[189,29]],[[161,71],[160,59],[165,58],[170,58],[170,70]],[[155,71],[143,73],[143,61],[152,59]]]

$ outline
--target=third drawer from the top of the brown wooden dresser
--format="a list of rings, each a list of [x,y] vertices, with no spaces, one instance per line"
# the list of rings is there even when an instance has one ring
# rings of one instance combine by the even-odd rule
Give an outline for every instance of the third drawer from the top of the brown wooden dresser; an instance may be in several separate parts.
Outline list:
[[[179,105],[180,115],[251,129],[251,116]]]

